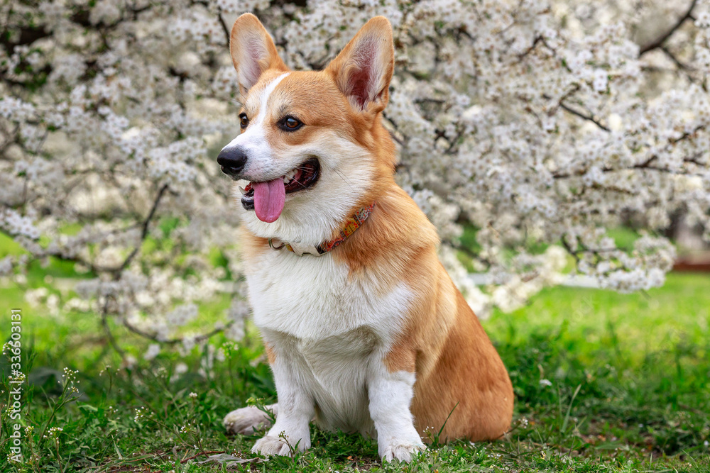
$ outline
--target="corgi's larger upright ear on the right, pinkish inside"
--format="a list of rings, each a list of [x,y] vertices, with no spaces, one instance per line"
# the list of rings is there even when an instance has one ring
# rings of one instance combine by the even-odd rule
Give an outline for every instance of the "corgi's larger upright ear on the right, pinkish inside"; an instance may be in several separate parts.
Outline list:
[[[384,16],[376,16],[360,28],[325,70],[353,108],[378,113],[389,100],[394,55],[392,26]]]

